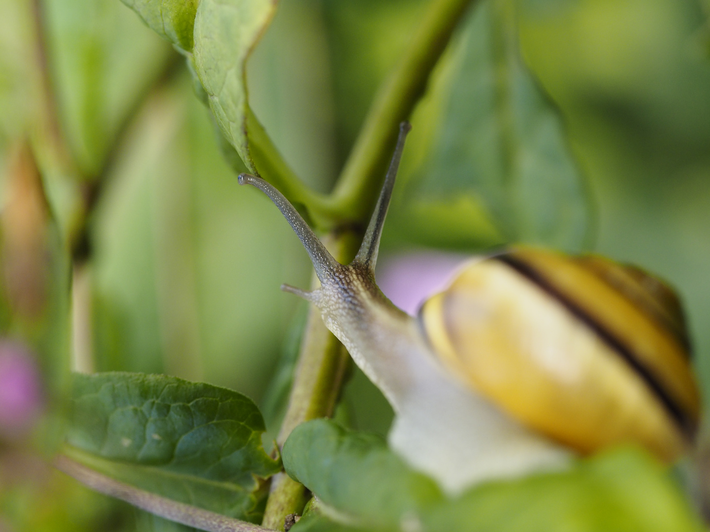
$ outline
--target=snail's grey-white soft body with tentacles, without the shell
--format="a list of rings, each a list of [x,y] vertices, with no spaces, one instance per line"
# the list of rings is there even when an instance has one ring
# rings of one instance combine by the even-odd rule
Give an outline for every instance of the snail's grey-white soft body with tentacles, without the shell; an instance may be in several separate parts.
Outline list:
[[[396,308],[375,284],[381,230],[408,130],[408,124],[400,128],[378,204],[349,266],[330,256],[278,190],[261,178],[239,176],[239,183],[255,185],[271,197],[305,245],[321,281],[312,292],[284,289],[320,308],[325,325],[391,403],[395,420],[388,440],[393,450],[447,492],[484,479],[564,467],[572,451],[465,386],[440,364],[417,320]]]

